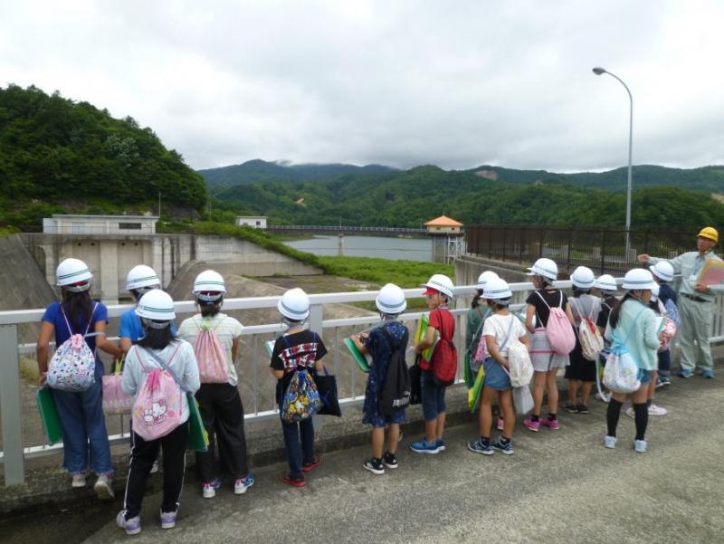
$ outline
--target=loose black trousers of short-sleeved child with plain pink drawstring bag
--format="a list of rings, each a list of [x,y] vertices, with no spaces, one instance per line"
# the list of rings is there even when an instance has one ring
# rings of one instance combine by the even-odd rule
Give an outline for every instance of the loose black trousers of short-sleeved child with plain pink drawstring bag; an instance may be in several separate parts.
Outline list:
[[[202,384],[196,391],[201,419],[209,434],[209,447],[196,452],[202,482],[214,482],[221,474],[234,480],[246,478],[246,437],[239,389],[230,384]],[[215,450],[218,446],[219,454]]]

